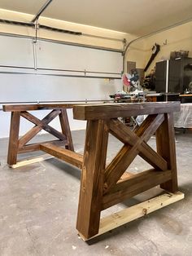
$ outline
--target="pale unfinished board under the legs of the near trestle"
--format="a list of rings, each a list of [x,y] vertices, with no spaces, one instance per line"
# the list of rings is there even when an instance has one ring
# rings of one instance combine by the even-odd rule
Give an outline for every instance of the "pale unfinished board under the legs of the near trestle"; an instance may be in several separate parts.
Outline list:
[[[99,231],[96,236],[100,236],[137,218],[141,218],[146,214],[151,214],[155,210],[164,208],[165,206],[171,205],[172,203],[180,201],[183,198],[184,194],[182,192],[164,193],[163,195],[156,196],[137,205],[120,210],[115,214],[111,214],[110,216],[101,219]],[[82,236],[81,234],[80,236],[83,241],[88,241],[85,236]],[[96,236],[90,237],[90,239],[93,239]]]

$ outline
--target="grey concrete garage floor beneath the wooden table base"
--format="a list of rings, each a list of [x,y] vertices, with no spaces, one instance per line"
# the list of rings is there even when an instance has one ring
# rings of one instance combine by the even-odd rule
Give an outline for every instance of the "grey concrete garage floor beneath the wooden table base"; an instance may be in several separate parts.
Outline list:
[[[85,131],[74,131],[72,137],[76,151],[83,152]],[[180,133],[176,139],[179,187],[185,199],[87,243],[76,232],[80,170],[55,158],[10,169],[7,139],[1,139],[0,255],[192,255],[192,134]],[[154,138],[150,144],[155,147]],[[120,143],[110,138],[108,158],[119,148]],[[129,170],[146,169],[137,157]],[[154,188],[107,214],[158,192]]]

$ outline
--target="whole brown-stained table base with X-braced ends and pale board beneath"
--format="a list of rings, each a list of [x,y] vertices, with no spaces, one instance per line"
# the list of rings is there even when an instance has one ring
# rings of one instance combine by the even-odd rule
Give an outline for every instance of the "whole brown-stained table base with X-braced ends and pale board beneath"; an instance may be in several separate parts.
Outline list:
[[[73,108],[73,117],[86,120],[84,155],[73,151],[72,136],[68,126],[66,108]],[[41,121],[28,110],[52,109]],[[184,195],[177,187],[177,163],[172,113],[180,110],[179,102],[131,103],[131,104],[36,104],[3,106],[11,111],[11,133],[8,164],[15,163],[17,153],[42,150],[68,161],[82,170],[81,189],[76,229],[84,240],[107,232],[135,218],[149,214],[181,200]],[[59,115],[62,132],[50,128],[48,123]],[[130,130],[118,117],[148,115],[141,126]],[[35,126],[19,139],[20,116],[32,121]],[[59,138],[55,143],[25,145],[41,129],[48,130]],[[123,147],[107,165],[108,135],[114,135]],[[157,152],[147,141],[156,134]],[[59,147],[64,143],[65,148]],[[133,159],[139,155],[153,167],[138,174],[125,173]],[[126,175],[125,175],[125,174]],[[100,219],[102,210],[125,199],[136,196],[159,185],[168,193],[155,197],[135,208],[122,210]]]

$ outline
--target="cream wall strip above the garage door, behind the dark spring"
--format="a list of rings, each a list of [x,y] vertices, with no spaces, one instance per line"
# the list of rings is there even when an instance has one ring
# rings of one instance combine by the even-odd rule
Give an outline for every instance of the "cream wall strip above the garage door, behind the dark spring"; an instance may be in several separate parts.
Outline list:
[[[7,11],[3,9],[0,9],[0,16],[1,16],[1,19],[16,20],[21,22],[30,22],[33,19],[33,15],[28,15],[20,12],[15,12],[15,11]],[[94,37],[76,36],[68,33],[57,33],[54,31],[39,29],[37,36],[40,38],[50,38],[50,39],[56,39],[56,40],[61,40],[66,42],[78,42],[78,43],[82,43],[82,44],[84,43],[84,44],[89,44],[93,46],[106,46],[106,47],[116,48],[120,50],[123,47],[123,43],[116,40],[110,40],[110,38],[117,39],[117,40],[119,39],[123,40],[124,38],[126,38],[128,41],[131,41],[133,38],[136,38],[135,36],[130,35],[128,33],[121,33],[121,32],[113,31],[109,29],[95,28],[92,26],[88,26],[84,24],[75,24],[75,23],[66,22],[63,20],[53,20],[46,17],[40,17],[39,23],[47,26],[55,27],[58,29],[67,29],[67,30],[77,31],[77,32],[94,36]],[[31,29],[28,27],[21,27],[21,26],[13,26],[10,24],[1,24],[0,32],[35,36],[35,29]],[[108,39],[99,38],[99,37],[107,37]]]

